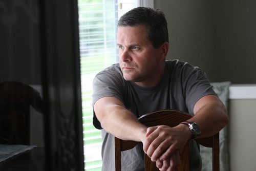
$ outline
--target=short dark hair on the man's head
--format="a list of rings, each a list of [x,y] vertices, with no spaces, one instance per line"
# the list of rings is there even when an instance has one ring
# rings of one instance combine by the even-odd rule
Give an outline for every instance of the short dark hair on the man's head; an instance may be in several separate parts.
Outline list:
[[[169,42],[167,22],[165,15],[158,9],[137,7],[118,20],[117,27],[143,25],[147,30],[147,38],[154,48],[159,48],[165,41]]]

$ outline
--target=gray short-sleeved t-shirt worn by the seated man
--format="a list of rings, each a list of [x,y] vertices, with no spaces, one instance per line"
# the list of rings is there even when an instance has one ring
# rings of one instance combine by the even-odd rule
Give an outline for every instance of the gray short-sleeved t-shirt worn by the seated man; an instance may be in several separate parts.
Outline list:
[[[164,75],[157,86],[143,88],[123,78],[119,64],[116,63],[98,73],[93,81],[92,104],[102,97],[116,97],[126,109],[137,117],[161,109],[175,109],[194,115],[194,105],[203,96],[216,93],[212,90],[205,73],[198,67],[179,60],[165,61]],[[95,114],[93,124],[102,129]],[[102,170],[115,170],[114,137],[102,133]],[[195,141],[190,141],[189,170],[201,169],[199,148]],[[122,152],[122,170],[144,170],[142,144]]]

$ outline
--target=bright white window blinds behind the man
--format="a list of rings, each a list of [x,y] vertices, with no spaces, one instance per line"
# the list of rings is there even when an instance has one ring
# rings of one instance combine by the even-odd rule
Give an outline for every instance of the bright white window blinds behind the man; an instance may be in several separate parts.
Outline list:
[[[101,170],[101,135],[92,124],[92,81],[118,61],[116,24],[138,1],[78,0],[85,169]]]

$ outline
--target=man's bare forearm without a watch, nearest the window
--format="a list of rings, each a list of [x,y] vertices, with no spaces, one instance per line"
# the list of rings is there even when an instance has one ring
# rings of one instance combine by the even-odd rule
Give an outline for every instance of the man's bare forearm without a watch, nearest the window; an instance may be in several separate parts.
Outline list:
[[[136,116],[125,109],[115,97],[103,97],[94,104],[96,117],[102,128],[122,140],[144,141],[147,127]]]

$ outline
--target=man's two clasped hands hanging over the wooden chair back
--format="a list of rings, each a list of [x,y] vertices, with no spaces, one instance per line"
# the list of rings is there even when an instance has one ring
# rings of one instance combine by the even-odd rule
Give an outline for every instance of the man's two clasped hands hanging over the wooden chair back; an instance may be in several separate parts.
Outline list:
[[[156,162],[159,170],[179,170],[179,148],[189,139],[183,125],[148,127],[143,143],[144,153]]]

